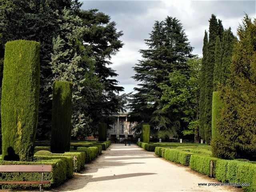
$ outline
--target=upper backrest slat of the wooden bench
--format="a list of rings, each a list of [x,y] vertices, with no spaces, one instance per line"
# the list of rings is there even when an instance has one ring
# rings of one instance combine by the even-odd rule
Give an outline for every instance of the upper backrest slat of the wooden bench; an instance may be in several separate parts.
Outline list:
[[[0,165],[0,172],[51,172],[51,165]]]

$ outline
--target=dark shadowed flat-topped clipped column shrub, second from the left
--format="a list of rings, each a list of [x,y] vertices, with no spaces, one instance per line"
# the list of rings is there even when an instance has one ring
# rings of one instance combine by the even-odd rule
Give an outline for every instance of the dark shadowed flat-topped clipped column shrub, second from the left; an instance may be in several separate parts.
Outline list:
[[[66,81],[55,81],[52,88],[51,152],[70,150],[72,86]]]

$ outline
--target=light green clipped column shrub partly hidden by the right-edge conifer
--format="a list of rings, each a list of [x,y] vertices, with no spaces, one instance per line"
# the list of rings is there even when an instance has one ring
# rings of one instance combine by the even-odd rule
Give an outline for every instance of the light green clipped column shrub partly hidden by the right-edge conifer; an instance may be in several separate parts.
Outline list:
[[[217,124],[220,121],[220,110],[222,101],[217,91],[212,93],[212,139],[218,138]]]

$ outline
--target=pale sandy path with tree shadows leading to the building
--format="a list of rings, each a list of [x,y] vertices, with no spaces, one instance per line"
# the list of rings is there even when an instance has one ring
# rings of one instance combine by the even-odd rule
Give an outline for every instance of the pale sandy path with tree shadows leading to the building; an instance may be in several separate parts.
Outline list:
[[[241,192],[232,187],[198,186],[216,182],[189,167],[159,158],[132,144],[111,144],[86,170],[52,191],[74,192]]]

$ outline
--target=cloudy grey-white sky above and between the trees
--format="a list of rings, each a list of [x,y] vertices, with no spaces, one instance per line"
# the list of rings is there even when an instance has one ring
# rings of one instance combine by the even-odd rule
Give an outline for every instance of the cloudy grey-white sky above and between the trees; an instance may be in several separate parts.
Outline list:
[[[208,31],[211,14],[222,20],[224,28],[230,26],[234,34],[244,12],[256,17],[256,0],[83,0],[82,9],[94,8],[108,14],[124,33],[121,40],[125,45],[112,57],[111,67],[119,74],[117,80],[126,93],[132,92],[137,84],[131,78],[132,67],[141,59],[138,50],[146,48],[144,39],[155,20],[162,21],[166,16],[178,18],[194,47],[193,54],[202,56],[204,30]]]

